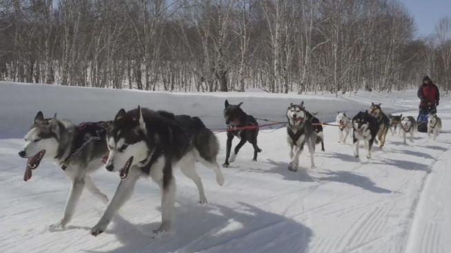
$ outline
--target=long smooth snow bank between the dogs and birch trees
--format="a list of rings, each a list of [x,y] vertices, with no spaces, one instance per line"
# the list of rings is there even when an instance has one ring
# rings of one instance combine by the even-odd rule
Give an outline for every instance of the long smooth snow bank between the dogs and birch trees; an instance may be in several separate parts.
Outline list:
[[[335,119],[337,111],[353,115],[368,109],[372,101],[382,102],[388,113],[405,109],[405,104],[396,104],[399,99],[393,95],[361,93],[335,98],[333,94],[264,92],[183,94],[0,82],[0,138],[22,137],[37,111],[43,111],[46,117],[57,113],[63,119],[87,122],[110,120],[119,109],[132,109],[140,104],[150,109],[197,115],[210,128],[219,129],[224,127],[225,99],[232,104],[244,102],[243,110],[254,117],[276,121],[285,121],[290,102],[304,100],[309,111],[319,112],[319,119],[328,122]],[[402,98],[403,93],[398,95]]]

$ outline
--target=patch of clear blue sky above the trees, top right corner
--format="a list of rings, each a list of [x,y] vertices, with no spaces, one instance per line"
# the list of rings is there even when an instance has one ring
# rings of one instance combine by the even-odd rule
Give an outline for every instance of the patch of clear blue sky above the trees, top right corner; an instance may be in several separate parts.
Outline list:
[[[435,32],[441,17],[451,17],[451,0],[400,0],[408,8],[417,25],[417,36]]]

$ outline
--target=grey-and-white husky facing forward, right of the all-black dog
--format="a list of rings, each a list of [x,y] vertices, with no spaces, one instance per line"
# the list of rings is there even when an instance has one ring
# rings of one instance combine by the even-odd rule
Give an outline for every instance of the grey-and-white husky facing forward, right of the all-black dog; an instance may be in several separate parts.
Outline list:
[[[287,109],[287,141],[290,145],[290,164],[288,170],[297,171],[299,167],[299,155],[304,144],[307,144],[310,152],[310,167],[314,168],[314,148],[317,144],[318,134],[312,126],[312,115],[305,111],[303,104],[290,103]]]

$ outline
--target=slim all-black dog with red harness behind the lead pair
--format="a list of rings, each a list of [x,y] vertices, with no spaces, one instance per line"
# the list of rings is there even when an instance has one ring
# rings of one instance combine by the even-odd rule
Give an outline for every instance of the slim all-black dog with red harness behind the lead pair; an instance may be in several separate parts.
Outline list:
[[[241,109],[241,104],[229,104],[228,100],[224,103],[224,119],[226,120],[228,132],[227,132],[227,146],[226,146],[226,162],[222,165],[227,168],[230,162],[234,162],[237,157],[239,149],[249,142],[254,147],[254,157],[252,161],[257,161],[257,153],[261,152],[261,149],[257,145],[257,135],[259,135],[259,123],[252,115],[246,114]],[[242,128],[249,126],[250,129],[233,130],[234,128]],[[234,152],[230,155],[230,149],[232,148],[232,140],[237,136],[240,141],[235,146]],[[229,159],[230,158],[230,159]]]

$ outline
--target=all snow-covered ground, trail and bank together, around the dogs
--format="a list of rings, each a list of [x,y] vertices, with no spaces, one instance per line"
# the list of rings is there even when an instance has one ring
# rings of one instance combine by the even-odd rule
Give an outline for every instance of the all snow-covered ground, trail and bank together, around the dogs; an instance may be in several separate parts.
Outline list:
[[[168,94],[0,82],[0,252],[451,252],[451,100],[443,96],[439,116],[444,133],[428,140],[416,133],[414,143],[388,135],[373,158],[352,155],[352,140],[339,144],[337,128],[325,127],[325,152],[317,148],[317,168],[287,169],[285,129],[263,130],[263,152],[252,162],[245,144],[230,168],[223,168],[220,187],[211,170],[199,166],[208,204],[197,203],[190,179],[176,173],[177,218],[172,232],[152,238],[160,221],[159,188],[141,179],[132,198],[108,229],[94,237],[90,228],[106,208],[83,192],[67,230],[51,232],[59,221],[69,192],[68,180],[49,161],[41,163],[30,181],[23,181],[25,160],[17,152],[37,111],[46,117],[74,122],[110,120],[121,108],[138,104],[152,109],[198,115],[211,128],[223,128],[223,100],[243,101],[242,108],[258,118],[285,120],[290,102],[305,101],[323,121],[337,111],[351,116],[382,102],[387,112],[417,116],[415,91],[392,94],[359,93],[272,95],[265,93]],[[225,157],[226,134],[219,161]],[[237,140],[234,140],[237,144]],[[112,197],[119,175],[101,169],[97,186]]]

